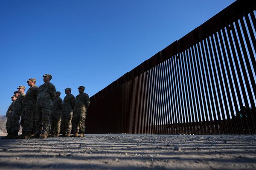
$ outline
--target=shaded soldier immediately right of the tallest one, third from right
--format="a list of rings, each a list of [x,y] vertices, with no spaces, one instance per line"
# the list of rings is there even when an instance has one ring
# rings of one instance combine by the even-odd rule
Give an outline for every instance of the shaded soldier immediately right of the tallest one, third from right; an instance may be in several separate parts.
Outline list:
[[[51,133],[52,137],[58,137],[61,131],[61,111],[62,99],[60,98],[61,92],[56,91],[56,99],[53,101],[51,113]]]

